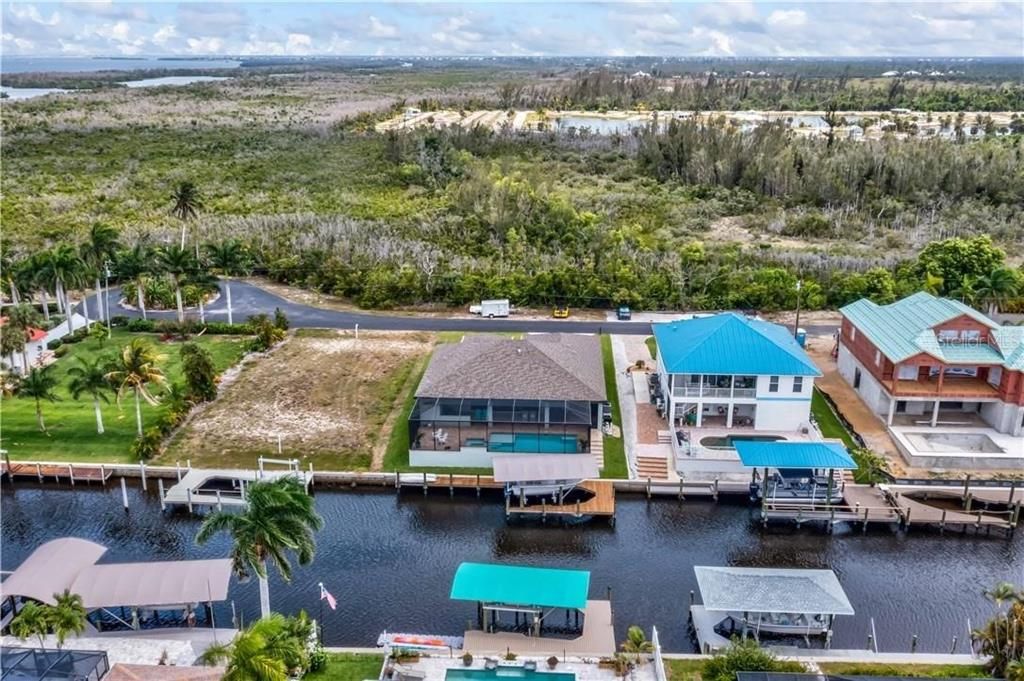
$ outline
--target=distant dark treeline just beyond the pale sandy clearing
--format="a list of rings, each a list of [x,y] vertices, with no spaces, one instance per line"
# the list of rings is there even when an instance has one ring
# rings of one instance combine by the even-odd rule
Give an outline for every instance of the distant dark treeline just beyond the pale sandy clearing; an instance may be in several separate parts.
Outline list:
[[[503,108],[557,110],[840,111],[912,109],[924,112],[1021,111],[1024,85],[873,79],[686,75],[632,76],[599,69],[568,81],[531,86],[509,83],[498,92]]]

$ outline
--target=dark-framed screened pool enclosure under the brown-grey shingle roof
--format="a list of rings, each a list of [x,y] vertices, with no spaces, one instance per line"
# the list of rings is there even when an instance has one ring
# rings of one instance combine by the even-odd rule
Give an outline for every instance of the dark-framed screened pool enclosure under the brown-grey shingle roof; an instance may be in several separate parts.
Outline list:
[[[600,420],[601,402],[417,397],[409,417],[409,449],[584,454]]]

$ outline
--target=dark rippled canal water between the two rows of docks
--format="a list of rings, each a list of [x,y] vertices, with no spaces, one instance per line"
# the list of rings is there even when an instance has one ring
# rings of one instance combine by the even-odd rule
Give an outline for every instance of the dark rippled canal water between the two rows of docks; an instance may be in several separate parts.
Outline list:
[[[227,555],[226,538],[197,546],[201,517],[161,512],[155,484],[3,486],[2,568],[16,567],[42,542],[81,537],[110,547],[104,561],[207,558]],[[966,652],[968,621],[991,612],[982,590],[998,581],[1024,582],[1024,533],[1013,539],[969,530],[941,536],[918,530],[837,527],[761,528],[743,503],[654,500],[620,495],[616,521],[578,525],[507,523],[499,497],[449,499],[434,491],[316,492],[326,521],[312,564],[295,567],[291,584],[270,582],[271,606],[319,612],[317,583],[337,598],[325,613],[330,645],[373,645],[384,630],[459,635],[474,618],[471,603],[449,600],[462,561],[591,570],[591,597],[611,588],[618,638],[632,624],[655,625],[667,650],[693,651],[686,626],[694,565],[830,567],[857,613],[839,618],[835,647],[867,645],[871,620],[883,651]],[[230,598],[247,621],[258,615],[255,582],[232,583]],[[218,612],[221,622],[229,609]]]

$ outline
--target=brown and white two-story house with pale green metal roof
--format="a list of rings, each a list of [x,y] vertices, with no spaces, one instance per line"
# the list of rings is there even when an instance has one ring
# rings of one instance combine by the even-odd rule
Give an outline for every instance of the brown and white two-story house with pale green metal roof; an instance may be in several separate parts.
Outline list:
[[[1024,327],[927,293],[889,305],[862,299],[840,312],[840,374],[888,425],[1024,434]]]

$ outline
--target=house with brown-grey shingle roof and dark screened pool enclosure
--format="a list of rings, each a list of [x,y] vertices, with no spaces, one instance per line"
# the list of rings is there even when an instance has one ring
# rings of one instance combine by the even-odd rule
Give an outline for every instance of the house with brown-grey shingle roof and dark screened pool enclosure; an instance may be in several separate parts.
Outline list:
[[[466,336],[441,345],[409,419],[414,466],[489,467],[509,454],[590,454],[607,395],[596,336]]]

